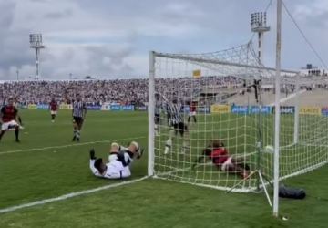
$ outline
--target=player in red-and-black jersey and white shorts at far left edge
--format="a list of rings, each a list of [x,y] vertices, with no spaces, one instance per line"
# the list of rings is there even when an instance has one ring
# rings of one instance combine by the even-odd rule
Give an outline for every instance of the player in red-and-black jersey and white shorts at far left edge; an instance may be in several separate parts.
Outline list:
[[[0,112],[0,118],[2,121],[0,140],[7,130],[15,130],[15,141],[19,142],[19,124],[16,122],[18,110],[14,106],[14,99],[9,98],[8,104],[5,105]]]

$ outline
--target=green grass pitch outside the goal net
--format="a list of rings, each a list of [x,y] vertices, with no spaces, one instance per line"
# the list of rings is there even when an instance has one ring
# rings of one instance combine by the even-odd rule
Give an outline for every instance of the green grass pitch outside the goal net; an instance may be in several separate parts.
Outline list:
[[[0,210],[117,183],[91,174],[88,150],[92,147],[103,158],[113,140],[128,143],[139,138],[147,147],[146,112],[89,111],[79,144],[71,141],[70,111],[60,111],[56,123],[50,122],[47,111],[21,110],[21,115],[26,125],[21,143],[15,143],[13,132],[0,142]],[[304,188],[307,197],[280,199],[279,219],[272,217],[263,193],[227,194],[149,178],[1,213],[0,227],[326,227],[327,172],[328,166],[323,166],[284,181]],[[129,180],[146,174],[144,156],[133,164]],[[282,216],[288,220],[282,221]]]

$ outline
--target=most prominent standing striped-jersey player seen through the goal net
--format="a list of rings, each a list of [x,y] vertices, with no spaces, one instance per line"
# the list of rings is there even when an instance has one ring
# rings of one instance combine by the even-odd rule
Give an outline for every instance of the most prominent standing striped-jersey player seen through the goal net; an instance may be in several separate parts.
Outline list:
[[[178,103],[178,98],[173,98],[172,102],[167,101],[167,111],[169,112],[169,121],[171,123],[171,129],[169,130],[169,139],[166,141],[164,154],[168,154],[172,148],[173,137],[177,137],[178,133],[183,140],[182,150],[184,153],[189,150],[188,143],[188,128],[184,123],[183,110],[181,104]]]

